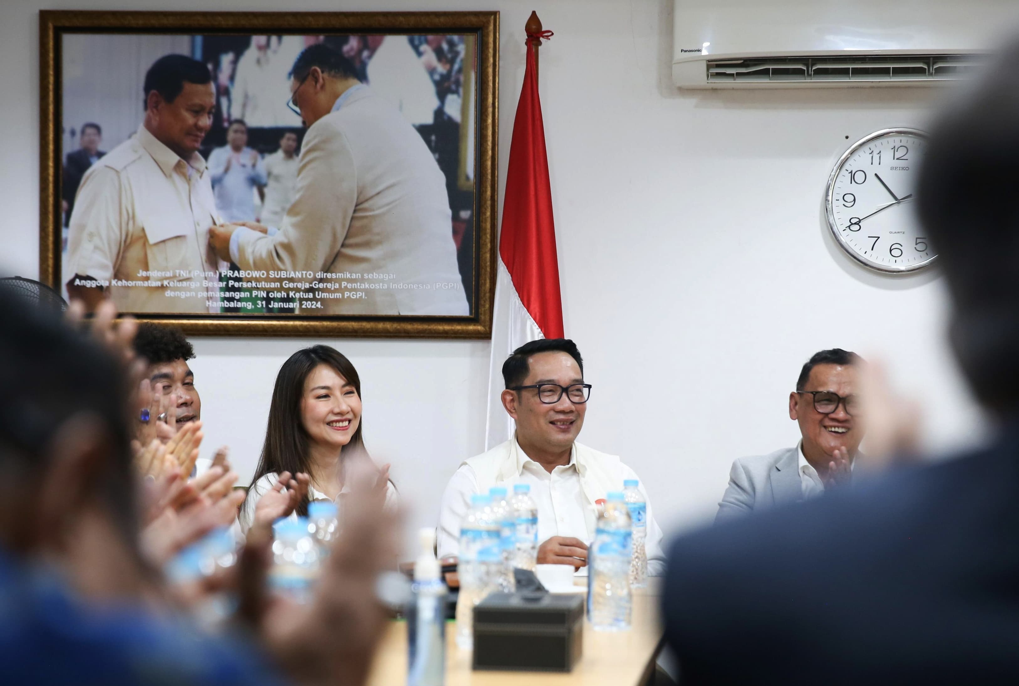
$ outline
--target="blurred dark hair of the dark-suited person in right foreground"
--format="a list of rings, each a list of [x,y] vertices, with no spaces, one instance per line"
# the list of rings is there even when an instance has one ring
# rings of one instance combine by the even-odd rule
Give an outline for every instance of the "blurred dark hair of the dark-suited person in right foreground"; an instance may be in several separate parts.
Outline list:
[[[931,127],[916,190],[952,302],[949,340],[976,398],[1019,406],[1019,43]]]

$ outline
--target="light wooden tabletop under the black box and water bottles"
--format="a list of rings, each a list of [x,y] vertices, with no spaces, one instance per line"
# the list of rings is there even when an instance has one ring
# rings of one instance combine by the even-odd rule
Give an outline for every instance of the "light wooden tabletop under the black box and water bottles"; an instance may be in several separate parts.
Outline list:
[[[661,645],[658,620],[658,579],[648,588],[635,589],[633,627],[619,633],[597,632],[584,622],[584,655],[573,672],[474,672],[471,651],[457,647],[457,624],[446,623],[446,686],[642,686],[654,672]],[[585,584],[586,580],[578,580]],[[382,638],[368,686],[404,686],[407,683],[407,624],[390,623]]]

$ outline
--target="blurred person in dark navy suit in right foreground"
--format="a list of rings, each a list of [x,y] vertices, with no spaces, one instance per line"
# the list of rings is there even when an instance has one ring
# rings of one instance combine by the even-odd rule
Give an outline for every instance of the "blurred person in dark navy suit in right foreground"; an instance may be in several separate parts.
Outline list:
[[[997,436],[677,540],[662,610],[685,683],[1019,682],[1017,94],[1013,44],[935,121],[916,193]]]

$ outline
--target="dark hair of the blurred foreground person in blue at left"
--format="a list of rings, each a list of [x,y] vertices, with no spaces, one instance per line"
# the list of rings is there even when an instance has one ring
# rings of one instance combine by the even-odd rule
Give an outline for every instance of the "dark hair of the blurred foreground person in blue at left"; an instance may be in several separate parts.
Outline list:
[[[0,471],[38,485],[50,467],[49,442],[72,416],[89,413],[109,439],[98,475],[99,497],[124,541],[137,551],[136,483],[131,471],[130,395],[121,365],[60,312],[0,298]]]

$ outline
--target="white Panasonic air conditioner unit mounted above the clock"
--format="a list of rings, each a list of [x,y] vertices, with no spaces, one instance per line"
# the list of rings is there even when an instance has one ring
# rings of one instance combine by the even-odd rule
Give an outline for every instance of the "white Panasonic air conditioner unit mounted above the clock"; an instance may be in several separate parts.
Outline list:
[[[980,68],[1014,0],[674,0],[683,89],[919,86]]]

